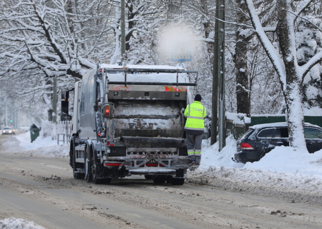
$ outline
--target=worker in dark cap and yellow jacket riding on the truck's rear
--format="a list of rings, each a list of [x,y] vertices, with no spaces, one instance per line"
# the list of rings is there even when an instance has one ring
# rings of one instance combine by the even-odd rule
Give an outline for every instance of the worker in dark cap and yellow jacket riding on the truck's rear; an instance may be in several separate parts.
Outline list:
[[[206,117],[206,107],[201,105],[201,95],[196,94],[195,101],[184,110],[187,121],[184,126],[189,165],[199,165],[201,161],[201,141],[204,132],[203,119]]]

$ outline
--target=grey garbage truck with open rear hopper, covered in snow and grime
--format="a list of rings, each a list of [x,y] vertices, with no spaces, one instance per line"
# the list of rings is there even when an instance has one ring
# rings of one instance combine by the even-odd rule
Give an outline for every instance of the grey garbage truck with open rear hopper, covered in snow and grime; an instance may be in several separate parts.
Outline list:
[[[198,167],[188,165],[183,130],[197,80],[198,71],[173,66],[98,64],[88,70],[61,93],[62,114],[72,118],[74,178],[97,184],[142,175],[183,185],[187,169]]]

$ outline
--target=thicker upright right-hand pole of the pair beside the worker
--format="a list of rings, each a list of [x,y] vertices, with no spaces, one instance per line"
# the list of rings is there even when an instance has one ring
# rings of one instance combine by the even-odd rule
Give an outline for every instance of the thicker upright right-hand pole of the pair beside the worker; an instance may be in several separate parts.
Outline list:
[[[219,38],[219,49],[218,49],[218,100],[219,100],[219,151],[225,146],[225,137],[226,137],[226,120],[225,120],[225,1],[218,0],[218,38]]]

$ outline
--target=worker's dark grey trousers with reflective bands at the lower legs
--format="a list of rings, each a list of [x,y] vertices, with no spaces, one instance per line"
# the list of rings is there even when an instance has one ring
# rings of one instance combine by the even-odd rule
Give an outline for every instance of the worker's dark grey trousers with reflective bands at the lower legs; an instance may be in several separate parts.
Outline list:
[[[199,162],[200,163],[201,141],[202,141],[202,134],[193,135],[193,134],[186,133],[188,157],[192,162]]]

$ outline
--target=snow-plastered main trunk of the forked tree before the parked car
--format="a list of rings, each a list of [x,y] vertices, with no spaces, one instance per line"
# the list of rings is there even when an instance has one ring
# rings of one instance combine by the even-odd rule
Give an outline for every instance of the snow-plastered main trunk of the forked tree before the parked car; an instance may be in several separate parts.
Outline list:
[[[302,107],[302,76],[299,76],[296,70],[295,58],[297,57],[293,48],[295,40],[292,40],[292,38],[295,39],[294,24],[290,19],[292,15],[288,15],[291,13],[287,12],[290,7],[287,5],[287,1],[278,0],[277,4],[279,5],[277,35],[285,65],[286,87],[283,93],[287,110],[290,146],[306,148]],[[280,81],[283,88],[282,77],[280,76]]]

